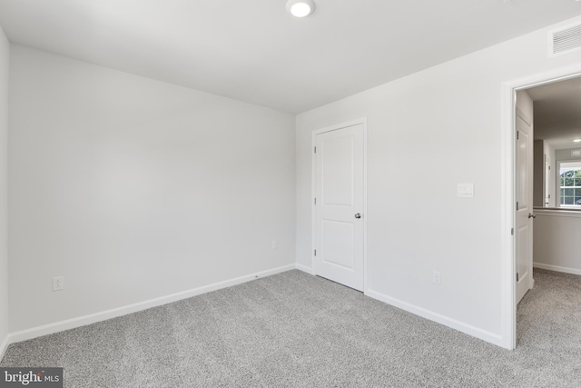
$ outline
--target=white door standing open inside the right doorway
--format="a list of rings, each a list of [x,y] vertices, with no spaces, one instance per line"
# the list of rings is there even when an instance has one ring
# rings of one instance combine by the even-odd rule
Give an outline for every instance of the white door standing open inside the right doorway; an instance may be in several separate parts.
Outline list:
[[[517,303],[533,284],[533,127],[517,111]]]

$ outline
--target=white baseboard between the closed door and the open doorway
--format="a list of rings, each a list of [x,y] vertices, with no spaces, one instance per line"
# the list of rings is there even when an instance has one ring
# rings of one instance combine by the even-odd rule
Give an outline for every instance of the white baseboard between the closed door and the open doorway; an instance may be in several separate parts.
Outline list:
[[[479,338],[488,343],[494,343],[495,345],[503,346],[503,338],[499,334],[487,332],[486,330],[479,329],[478,327],[472,326],[467,323],[459,322],[455,319],[449,318],[439,313],[434,313],[432,311],[416,306],[414,304],[400,301],[399,299],[392,298],[383,293],[368,290],[367,293],[365,294],[373,299],[377,299],[383,303],[388,303],[392,306],[405,310],[408,313],[414,313],[416,315],[421,316],[422,318],[426,318],[430,321],[443,324],[444,326],[448,326],[452,329],[458,330],[459,332],[467,333],[468,335],[472,335],[473,337]]]

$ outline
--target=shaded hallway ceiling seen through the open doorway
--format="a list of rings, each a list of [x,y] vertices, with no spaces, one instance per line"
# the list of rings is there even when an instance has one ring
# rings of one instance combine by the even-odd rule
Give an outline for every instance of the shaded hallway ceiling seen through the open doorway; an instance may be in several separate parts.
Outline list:
[[[535,139],[556,150],[581,148],[581,77],[527,89],[534,102]]]

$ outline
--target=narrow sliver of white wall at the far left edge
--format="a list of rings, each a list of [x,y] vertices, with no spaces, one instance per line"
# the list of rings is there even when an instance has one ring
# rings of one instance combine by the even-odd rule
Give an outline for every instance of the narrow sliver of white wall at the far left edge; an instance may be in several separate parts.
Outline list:
[[[9,49],[0,27],[0,360],[8,334],[8,67]]]

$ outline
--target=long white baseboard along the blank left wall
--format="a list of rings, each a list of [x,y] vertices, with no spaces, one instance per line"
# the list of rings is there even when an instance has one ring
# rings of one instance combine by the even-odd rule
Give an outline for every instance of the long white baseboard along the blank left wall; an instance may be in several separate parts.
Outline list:
[[[149,301],[129,304],[123,307],[117,307],[111,310],[106,310],[100,313],[92,313],[89,315],[80,316],[65,321],[44,324],[43,326],[33,327],[31,329],[22,330],[20,332],[9,333],[5,339],[5,346],[10,343],[19,343],[21,341],[30,340],[43,335],[63,332],[64,330],[74,329],[75,327],[85,326],[87,324],[105,321],[118,316],[126,315],[128,313],[137,313],[139,311],[147,310],[152,307],[157,307],[162,304],[181,301],[182,299],[191,298],[192,296],[200,295],[202,293],[210,293],[212,291],[220,290],[222,288],[231,287],[232,285],[250,282],[261,277],[270,276],[271,274],[280,274],[286,271],[295,269],[295,264],[285,265],[279,268],[262,271],[260,273],[248,274],[234,279],[218,282],[214,284],[203,285],[202,287],[193,288],[191,290],[182,291],[180,293],[172,293],[170,295],[154,298]],[[7,343],[6,343],[7,342]],[[3,343],[4,345],[4,343]]]

